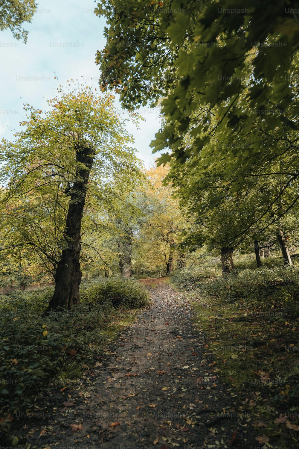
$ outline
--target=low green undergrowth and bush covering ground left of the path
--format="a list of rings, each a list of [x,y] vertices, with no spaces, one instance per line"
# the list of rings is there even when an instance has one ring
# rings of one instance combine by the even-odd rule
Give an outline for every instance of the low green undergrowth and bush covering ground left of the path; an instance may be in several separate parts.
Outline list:
[[[0,295],[0,397],[13,413],[34,405],[49,383],[65,386],[104,355],[120,326],[134,316],[125,309],[147,304],[140,282],[108,279],[82,285],[82,304],[72,313],[43,317],[53,288]]]

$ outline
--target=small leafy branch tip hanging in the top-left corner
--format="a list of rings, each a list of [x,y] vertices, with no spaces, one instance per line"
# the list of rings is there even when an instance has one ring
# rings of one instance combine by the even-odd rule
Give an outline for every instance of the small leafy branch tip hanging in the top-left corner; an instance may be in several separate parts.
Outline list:
[[[13,37],[26,43],[28,31],[22,28],[22,24],[31,22],[36,7],[35,0],[3,0],[0,5],[0,30],[9,28]]]

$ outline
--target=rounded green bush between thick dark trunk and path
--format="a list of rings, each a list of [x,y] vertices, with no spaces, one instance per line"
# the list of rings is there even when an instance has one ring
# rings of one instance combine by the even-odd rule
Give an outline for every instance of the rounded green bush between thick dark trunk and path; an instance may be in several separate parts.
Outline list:
[[[97,304],[112,304],[124,309],[139,308],[147,305],[149,293],[141,282],[109,277],[83,284],[80,300],[89,308]]]

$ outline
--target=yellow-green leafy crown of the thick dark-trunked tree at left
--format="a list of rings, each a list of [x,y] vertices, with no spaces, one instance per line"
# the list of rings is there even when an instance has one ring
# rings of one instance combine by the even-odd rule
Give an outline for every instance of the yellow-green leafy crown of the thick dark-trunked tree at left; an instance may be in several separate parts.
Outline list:
[[[26,104],[26,120],[20,123],[25,129],[14,134],[14,142],[3,139],[0,144],[1,251],[12,265],[23,260],[23,271],[35,276],[41,267],[54,276],[61,251],[72,245],[65,236],[66,211],[78,204],[82,170],[90,170],[83,189],[80,256],[84,251],[85,261],[95,240],[91,233],[105,237],[107,216],[124,207],[127,195],[144,179],[114,97],[71,81],[73,90],[59,86],[48,110]],[[136,123],[135,115],[132,119]],[[91,151],[84,159],[80,145]],[[91,167],[82,160],[90,160]]]

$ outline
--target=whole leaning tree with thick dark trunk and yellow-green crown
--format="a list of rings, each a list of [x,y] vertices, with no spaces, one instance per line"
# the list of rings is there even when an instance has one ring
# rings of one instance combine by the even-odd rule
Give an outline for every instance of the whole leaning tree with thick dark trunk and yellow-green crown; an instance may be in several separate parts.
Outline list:
[[[22,123],[26,130],[16,134],[15,143],[3,141],[1,145],[6,162],[2,179],[9,177],[7,200],[22,198],[27,205],[31,192],[48,198],[54,189],[53,209],[65,214],[56,286],[48,311],[71,309],[79,302],[87,193],[104,207],[105,202],[113,204],[116,196],[126,196],[141,179],[138,159],[129,146],[132,139],[113,108],[113,96],[98,97],[88,87],[67,93],[60,89],[59,93],[60,97],[49,100],[52,109],[44,115],[27,106],[30,116]]]

